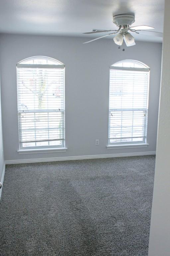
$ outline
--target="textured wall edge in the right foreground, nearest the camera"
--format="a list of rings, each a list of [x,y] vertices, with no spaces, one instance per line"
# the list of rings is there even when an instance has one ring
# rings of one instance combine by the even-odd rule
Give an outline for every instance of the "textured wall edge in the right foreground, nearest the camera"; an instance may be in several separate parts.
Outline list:
[[[170,255],[170,2],[165,0],[162,79],[149,256]]]

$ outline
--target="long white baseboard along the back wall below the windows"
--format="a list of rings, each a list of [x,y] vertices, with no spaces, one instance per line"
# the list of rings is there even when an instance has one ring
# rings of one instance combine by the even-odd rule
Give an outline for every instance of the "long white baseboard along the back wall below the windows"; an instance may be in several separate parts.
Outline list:
[[[156,154],[156,151],[119,153],[119,154],[107,154],[107,155],[63,156],[63,157],[49,157],[49,158],[6,160],[5,163],[6,164],[21,164],[21,163],[37,163],[37,162],[52,162],[52,161],[65,161],[65,160],[122,157],[122,156],[144,156],[144,155],[155,155],[155,154]]]

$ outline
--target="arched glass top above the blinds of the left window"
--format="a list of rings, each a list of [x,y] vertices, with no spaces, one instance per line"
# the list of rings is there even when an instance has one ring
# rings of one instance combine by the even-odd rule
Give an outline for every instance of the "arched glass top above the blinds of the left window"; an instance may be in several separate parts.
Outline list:
[[[24,59],[18,64],[36,64],[36,65],[64,65],[62,62],[45,56],[34,56]]]

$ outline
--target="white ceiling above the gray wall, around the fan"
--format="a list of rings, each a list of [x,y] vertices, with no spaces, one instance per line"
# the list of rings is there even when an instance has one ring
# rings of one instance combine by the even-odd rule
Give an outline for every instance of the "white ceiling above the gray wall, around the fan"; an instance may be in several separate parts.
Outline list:
[[[0,33],[85,37],[91,29],[116,29],[112,16],[118,14],[134,14],[133,26],[163,32],[164,0],[0,0]],[[135,38],[161,42],[155,36]]]

